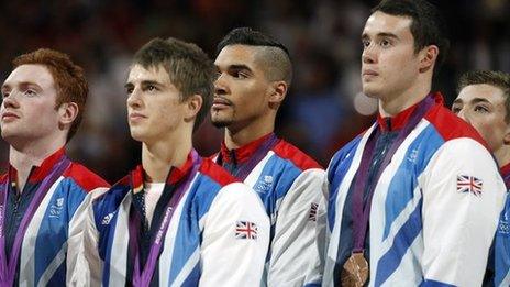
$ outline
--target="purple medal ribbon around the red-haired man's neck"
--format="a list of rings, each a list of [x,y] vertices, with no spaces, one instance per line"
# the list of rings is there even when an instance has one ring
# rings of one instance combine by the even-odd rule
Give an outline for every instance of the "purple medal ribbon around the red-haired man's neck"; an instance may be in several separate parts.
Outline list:
[[[5,254],[5,205],[8,202],[9,186],[11,185],[11,178],[5,180],[5,184],[0,186],[0,286],[12,286],[14,284],[15,271],[18,267],[18,261],[21,253],[21,244],[23,243],[23,238],[25,235],[29,223],[35,214],[35,211],[40,207],[44,197],[46,196],[49,188],[55,184],[55,181],[64,174],[64,172],[69,167],[70,161],[67,156],[62,156],[60,159],[54,165],[49,175],[44,178],[41,186],[35,190],[34,198],[29,205],[23,218],[21,220],[20,227],[14,238],[14,244],[9,254],[9,261]]]

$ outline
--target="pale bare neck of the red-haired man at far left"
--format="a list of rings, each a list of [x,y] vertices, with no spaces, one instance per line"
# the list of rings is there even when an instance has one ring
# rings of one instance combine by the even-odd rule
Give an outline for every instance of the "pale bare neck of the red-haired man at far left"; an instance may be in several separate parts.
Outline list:
[[[9,163],[16,169],[18,189],[21,192],[29,179],[32,166],[40,166],[46,157],[54,154],[65,145],[64,141],[51,141],[48,143],[31,142],[23,145],[11,145],[9,150]]]

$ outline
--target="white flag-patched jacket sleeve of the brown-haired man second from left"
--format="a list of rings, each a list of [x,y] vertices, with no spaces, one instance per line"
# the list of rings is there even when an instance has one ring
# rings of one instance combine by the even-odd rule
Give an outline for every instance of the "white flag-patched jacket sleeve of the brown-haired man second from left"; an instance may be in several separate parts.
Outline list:
[[[223,187],[203,224],[199,285],[259,285],[270,225],[255,191],[241,183]]]

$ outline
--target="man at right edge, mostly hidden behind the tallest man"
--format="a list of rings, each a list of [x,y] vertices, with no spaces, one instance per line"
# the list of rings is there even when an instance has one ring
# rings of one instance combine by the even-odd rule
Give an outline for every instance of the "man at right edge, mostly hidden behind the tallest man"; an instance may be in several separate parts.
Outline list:
[[[464,74],[458,81],[458,96],[452,111],[472,124],[492,151],[510,190],[510,75],[494,70]],[[496,231],[489,257],[487,279],[491,286],[510,285],[510,198]]]

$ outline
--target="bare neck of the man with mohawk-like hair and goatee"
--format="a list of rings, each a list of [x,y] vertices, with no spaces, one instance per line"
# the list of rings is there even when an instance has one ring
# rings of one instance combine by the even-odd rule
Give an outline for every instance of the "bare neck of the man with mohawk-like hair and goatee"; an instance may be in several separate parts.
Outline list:
[[[275,117],[253,121],[242,129],[231,126],[225,130],[225,145],[229,150],[239,148],[275,131]]]

